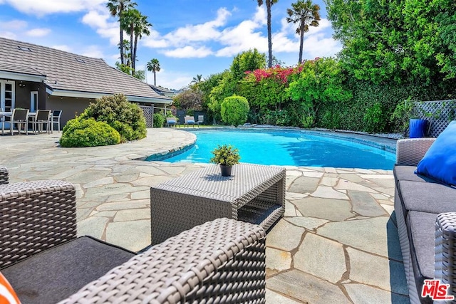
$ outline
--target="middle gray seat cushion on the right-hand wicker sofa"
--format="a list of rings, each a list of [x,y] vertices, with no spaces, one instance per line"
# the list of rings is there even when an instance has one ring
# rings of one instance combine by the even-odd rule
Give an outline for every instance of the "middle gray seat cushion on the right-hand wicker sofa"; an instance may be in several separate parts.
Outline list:
[[[440,214],[456,211],[456,189],[437,183],[399,181],[405,210]]]

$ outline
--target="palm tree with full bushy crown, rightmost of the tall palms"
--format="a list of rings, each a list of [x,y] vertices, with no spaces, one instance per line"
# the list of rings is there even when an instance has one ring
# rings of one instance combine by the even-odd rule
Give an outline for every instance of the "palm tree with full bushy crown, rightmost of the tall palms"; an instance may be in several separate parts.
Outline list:
[[[287,9],[288,16],[286,21],[288,23],[299,23],[296,28],[296,33],[300,34],[301,40],[299,41],[299,63],[302,63],[302,49],[304,46],[304,33],[309,31],[309,26],[319,26],[320,24],[320,6],[313,4],[311,0],[298,0],[292,3],[293,9]]]

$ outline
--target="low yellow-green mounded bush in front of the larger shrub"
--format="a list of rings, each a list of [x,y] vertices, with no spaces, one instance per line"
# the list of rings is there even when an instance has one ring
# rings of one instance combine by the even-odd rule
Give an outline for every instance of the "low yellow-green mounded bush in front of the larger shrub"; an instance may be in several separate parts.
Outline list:
[[[120,135],[106,122],[77,117],[66,123],[60,139],[61,147],[96,147],[120,143]]]

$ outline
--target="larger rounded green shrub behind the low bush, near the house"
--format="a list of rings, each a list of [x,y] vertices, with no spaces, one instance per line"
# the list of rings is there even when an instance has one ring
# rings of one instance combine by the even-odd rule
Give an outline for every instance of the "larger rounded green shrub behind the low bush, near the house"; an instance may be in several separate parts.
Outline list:
[[[145,118],[139,105],[130,103],[125,95],[103,96],[90,103],[79,116],[80,119],[93,117],[96,121],[108,123],[120,134],[120,141],[140,140],[145,137]]]

